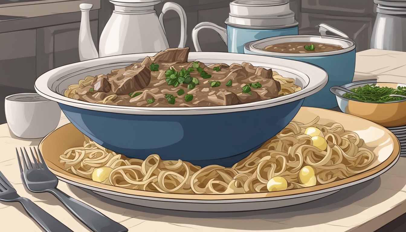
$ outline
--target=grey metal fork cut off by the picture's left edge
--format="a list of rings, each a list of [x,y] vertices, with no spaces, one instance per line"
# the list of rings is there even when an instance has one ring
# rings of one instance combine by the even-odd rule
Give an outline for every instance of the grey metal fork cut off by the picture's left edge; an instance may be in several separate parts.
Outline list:
[[[23,205],[28,215],[32,217],[46,232],[73,232],[58,219],[52,217],[48,212],[39,208],[34,202],[25,197],[20,197],[10,182],[0,171],[0,200],[4,202],[19,202]]]

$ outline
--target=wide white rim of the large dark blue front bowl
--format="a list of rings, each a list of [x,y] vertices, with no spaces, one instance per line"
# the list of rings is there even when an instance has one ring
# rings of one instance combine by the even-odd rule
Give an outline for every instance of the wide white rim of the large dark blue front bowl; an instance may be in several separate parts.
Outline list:
[[[60,104],[65,104],[68,106],[93,111],[104,111],[109,113],[124,113],[136,115],[203,115],[203,114],[231,113],[238,111],[250,111],[261,108],[269,108],[272,106],[278,106],[289,102],[294,102],[296,100],[301,100],[309,95],[312,95],[313,93],[316,93],[317,91],[322,89],[327,84],[328,81],[328,75],[324,71],[324,69],[300,61],[287,60],[270,56],[259,56],[259,55],[228,53],[228,52],[190,52],[188,59],[189,61],[205,60],[203,62],[209,63],[209,61],[206,60],[215,60],[215,62],[218,63],[220,60],[222,60],[224,62],[232,61],[233,63],[237,62],[263,63],[266,64],[265,67],[268,66],[272,68],[272,66],[274,66],[276,69],[278,69],[279,67],[279,69],[293,73],[297,76],[307,76],[306,74],[298,70],[306,70],[307,73],[312,75],[311,78],[307,76],[307,78],[309,78],[309,83],[302,90],[297,91],[295,93],[283,95],[268,100],[229,106],[203,106],[203,107],[115,106],[75,100],[72,98],[65,97],[64,95],[61,95],[59,93],[56,93],[55,92],[56,90],[53,91],[50,88],[51,86],[54,85],[54,82],[56,82],[57,80],[65,80],[66,76],[69,76],[70,74],[76,72],[82,71],[86,72],[86,69],[90,69],[91,67],[120,62],[129,64],[135,63],[138,60],[142,61],[145,58],[145,56],[154,56],[155,54],[156,52],[108,56],[57,67],[42,74],[41,76],[39,76],[39,78],[37,78],[37,80],[35,81],[35,90],[39,95],[52,101],[58,102]],[[53,82],[50,81],[51,78],[54,80]]]

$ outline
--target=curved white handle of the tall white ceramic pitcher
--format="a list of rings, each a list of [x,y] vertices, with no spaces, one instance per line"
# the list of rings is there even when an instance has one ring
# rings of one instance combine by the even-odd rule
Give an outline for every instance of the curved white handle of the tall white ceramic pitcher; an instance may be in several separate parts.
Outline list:
[[[162,7],[162,13],[159,15],[159,22],[161,23],[162,29],[164,29],[164,33],[166,36],[165,26],[164,26],[164,14],[167,11],[176,11],[180,18],[180,41],[178,48],[184,48],[186,46],[186,27],[187,27],[187,18],[184,9],[175,2],[166,2],[164,7]]]

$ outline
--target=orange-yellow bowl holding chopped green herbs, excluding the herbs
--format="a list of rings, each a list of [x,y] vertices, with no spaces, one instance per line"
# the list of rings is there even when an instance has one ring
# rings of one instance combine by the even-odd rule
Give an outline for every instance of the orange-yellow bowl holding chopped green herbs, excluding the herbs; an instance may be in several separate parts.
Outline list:
[[[398,86],[406,86],[399,83],[376,82],[376,79],[374,79],[351,82],[341,87],[352,89],[366,84],[377,84],[380,87],[391,87],[393,89],[396,89]],[[385,127],[406,125],[406,98],[405,100],[395,102],[371,103],[349,100],[342,97],[340,93],[333,93],[336,95],[338,105],[344,113],[368,119]]]

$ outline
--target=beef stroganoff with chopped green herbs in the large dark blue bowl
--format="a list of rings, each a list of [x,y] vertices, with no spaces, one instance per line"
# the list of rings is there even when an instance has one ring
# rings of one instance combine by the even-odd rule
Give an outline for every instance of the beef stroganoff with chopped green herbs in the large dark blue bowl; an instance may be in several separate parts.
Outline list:
[[[299,91],[294,79],[250,63],[188,61],[189,48],[169,48],[110,74],[86,76],[64,95],[85,102],[147,107],[225,106]]]

